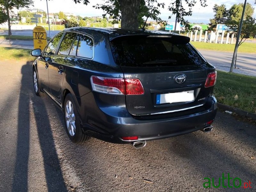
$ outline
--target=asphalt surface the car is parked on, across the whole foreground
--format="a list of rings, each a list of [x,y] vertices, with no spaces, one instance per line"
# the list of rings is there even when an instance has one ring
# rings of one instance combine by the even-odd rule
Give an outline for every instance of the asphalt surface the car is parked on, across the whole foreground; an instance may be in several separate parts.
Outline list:
[[[250,180],[255,190],[255,124],[218,112],[211,133],[150,141],[140,150],[96,139],[78,145],[66,135],[62,112],[34,94],[31,74],[29,62],[0,61],[1,191],[194,192],[222,173]]]

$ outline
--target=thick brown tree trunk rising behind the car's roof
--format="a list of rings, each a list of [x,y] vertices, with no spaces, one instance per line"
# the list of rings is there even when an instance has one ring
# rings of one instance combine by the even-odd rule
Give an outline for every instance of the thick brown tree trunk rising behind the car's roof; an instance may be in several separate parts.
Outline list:
[[[121,28],[138,30],[138,14],[141,0],[119,0],[121,10]]]

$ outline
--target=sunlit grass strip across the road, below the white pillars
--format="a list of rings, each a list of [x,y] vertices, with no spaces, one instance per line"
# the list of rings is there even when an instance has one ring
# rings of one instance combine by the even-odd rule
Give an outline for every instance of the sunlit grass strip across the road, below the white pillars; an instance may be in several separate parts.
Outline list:
[[[190,42],[196,49],[205,49],[213,51],[225,51],[234,52],[235,44],[215,44],[215,43],[204,43],[204,42]],[[238,47],[238,52],[244,53],[256,53],[256,43],[244,42]]]

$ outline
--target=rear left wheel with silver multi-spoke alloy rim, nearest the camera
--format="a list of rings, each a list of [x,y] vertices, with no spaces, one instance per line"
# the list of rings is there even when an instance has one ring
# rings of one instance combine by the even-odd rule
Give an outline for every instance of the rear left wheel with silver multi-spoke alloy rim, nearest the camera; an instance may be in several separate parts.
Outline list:
[[[63,111],[65,128],[69,139],[74,143],[83,143],[89,140],[90,136],[84,134],[83,132],[76,103],[70,93],[68,93],[65,97]]]

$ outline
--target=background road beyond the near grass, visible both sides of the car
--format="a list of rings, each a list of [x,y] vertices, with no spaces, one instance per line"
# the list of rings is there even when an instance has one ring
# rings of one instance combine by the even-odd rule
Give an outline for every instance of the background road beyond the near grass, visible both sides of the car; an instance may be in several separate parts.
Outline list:
[[[12,47],[33,49],[33,41],[11,40]],[[9,46],[8,40],[0,40],[0,46]],[[229,71],[233,57],[232,52],[218,52],[199,50],[204,58],[212,63],[218,70]],[[237,67],[233,72],[256,76],[256,54],[238,53]]]

